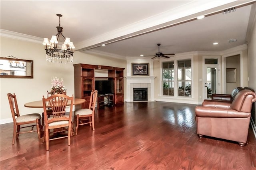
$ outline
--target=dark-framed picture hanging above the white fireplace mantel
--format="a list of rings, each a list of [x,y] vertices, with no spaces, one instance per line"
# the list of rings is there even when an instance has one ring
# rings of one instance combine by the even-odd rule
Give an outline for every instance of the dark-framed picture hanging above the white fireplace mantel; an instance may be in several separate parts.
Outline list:
[[[149,76],[149,63],[132,63],[132,76]]]

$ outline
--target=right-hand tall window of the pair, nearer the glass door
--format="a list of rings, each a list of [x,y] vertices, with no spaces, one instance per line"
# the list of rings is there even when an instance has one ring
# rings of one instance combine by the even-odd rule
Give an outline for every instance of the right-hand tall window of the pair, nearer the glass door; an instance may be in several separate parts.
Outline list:
[[[178,96],[191,96],[191,59],[178,61]]]

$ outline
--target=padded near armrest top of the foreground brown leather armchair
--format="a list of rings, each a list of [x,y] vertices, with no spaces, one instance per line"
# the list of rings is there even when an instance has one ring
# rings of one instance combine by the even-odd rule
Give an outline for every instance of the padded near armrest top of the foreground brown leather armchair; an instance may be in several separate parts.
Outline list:
[[[196,117],[222,117],[222,118],[248,118],[251,113],[238,112],[232,109],[219,109],[212,107],[196,106]]]

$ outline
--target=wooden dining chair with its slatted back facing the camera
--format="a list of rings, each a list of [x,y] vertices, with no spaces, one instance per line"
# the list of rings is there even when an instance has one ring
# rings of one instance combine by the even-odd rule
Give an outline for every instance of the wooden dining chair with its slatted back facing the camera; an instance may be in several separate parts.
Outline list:
[[[72,110],[73,110],[74,96],[69,97],[64,94],[57,94],[48,97],[43,96],[44,106],[44,138],[46,141],[46,150],[49,150],[49,140],[55,140],[68,137],[68,146],[70,146],[70,138],[72,135]],[[65,115],[66,106],[70,104],[69,115]],[[52,109],[52,116],[48,118],[47,109]],[[68,127],[68,129],[66,129]],[[53,129],[53,130],[51,130]],[[50,138],[50,134],[56,134],[60,132],[66,132],[61,136]]]

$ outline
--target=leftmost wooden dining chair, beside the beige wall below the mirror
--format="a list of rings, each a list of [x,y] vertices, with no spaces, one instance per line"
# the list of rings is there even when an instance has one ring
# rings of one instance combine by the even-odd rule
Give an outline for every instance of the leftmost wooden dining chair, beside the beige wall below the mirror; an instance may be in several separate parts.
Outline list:
[[[31,113],[27,115],[20,115],[17,98],[15,93],[13,95],[11,93],[7,94],[10,109],[12,113],[12,119],[13,119],[13,137],[12,137],[12,144],[15,143],[15,138],[18,139],[20,133],[28,133],[28,132],[37,132],[38,133],[38,139],[40,140],[41,130],[40,130],[40,119],[41,115],[39,113]],[[30,124],[30,125],[28,125]],[[32,124],[32,125],[31,125]],[[21,125],[27,125],[22,126]],[[34,129],[34,126],[36,126],[36,130]],[[31,127],[31,130],[20,132],[20,128],[26,128]]]

